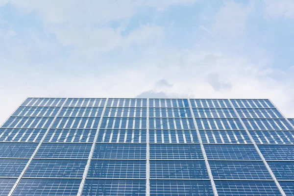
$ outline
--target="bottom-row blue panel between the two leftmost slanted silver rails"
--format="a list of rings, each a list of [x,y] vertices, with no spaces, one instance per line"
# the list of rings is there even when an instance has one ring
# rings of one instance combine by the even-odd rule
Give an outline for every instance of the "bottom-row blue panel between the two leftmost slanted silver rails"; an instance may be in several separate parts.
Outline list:
[[[76,196],[79,179],[22,179],[13,196]]]

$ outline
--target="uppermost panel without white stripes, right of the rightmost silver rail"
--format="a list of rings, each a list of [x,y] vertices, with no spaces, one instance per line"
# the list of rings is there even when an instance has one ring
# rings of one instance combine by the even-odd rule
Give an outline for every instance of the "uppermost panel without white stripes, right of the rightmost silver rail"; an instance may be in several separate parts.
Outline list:
[[[294,145],[258,145],[266,160],[294,161]]]

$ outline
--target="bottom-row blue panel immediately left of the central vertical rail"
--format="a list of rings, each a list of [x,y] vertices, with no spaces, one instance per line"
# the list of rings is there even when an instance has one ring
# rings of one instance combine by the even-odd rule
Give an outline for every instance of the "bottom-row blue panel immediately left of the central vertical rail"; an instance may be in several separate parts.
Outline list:
[[[146,180],[87,179],[82,196],[145,196]]]

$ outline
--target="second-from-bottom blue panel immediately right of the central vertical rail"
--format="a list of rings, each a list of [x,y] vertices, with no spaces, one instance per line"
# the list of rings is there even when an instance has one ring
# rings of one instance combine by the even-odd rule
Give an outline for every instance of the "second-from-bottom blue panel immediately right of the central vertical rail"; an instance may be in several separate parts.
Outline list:
[[[209,179],[204,161],[150,161],[150,178]]]

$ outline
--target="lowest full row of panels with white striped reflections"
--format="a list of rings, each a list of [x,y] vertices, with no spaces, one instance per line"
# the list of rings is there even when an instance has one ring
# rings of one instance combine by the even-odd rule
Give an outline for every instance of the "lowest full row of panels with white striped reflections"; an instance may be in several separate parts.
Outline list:
[[[0,142],[40,142],[47,129],[1,128]],[[44,142],[94,142],[97,129],[49,129]],[[208,144],[251,144],[246,131],[200,130]],[[256,144],[294,144],[294,131],[249,131]],[[99,129],[99,143],[146,143],[146,129]],[[196,130],[149,130],[150,143],[198,143]]]

